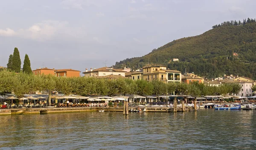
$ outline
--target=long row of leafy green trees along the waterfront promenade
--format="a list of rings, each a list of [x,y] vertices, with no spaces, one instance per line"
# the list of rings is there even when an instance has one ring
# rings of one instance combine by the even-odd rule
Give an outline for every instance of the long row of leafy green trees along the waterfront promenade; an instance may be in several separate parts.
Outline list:
[[[239,93],[239,84],[224,84],[220,87],[207,86],[193,82],[191,84],[180,82],[160,81],[147,82],[145,80],[131,79],[96,79],[92,77],[57,77],[53,75],[34,75],[20,72],[15,74],[9,71],[0,71],[0,93],[14,92],[17,97],[32,91],[61,91],[69,95],[165,95],[186,94],[191,96],[224,95]]]

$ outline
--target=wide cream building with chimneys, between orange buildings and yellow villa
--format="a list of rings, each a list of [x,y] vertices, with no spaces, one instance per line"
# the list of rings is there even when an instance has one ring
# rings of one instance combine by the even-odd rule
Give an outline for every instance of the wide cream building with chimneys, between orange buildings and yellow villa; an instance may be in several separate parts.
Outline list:
[[[122,69],[114,69],[114,68],[108,68],[108,67],[102,67],[98,69],[90,68],[90,71],[88,69],[85,69],[85,72],[83,72],[84,76],[107,76],[107,75],[120,75],[125,76],[126,71],[122,71]]]

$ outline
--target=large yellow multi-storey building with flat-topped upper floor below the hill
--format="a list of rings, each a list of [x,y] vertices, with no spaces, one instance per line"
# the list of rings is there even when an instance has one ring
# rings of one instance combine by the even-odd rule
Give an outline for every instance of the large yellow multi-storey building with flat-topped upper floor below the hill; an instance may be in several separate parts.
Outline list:
[[[181,72],[166,69],[165,66],[143,67],[143,80],[160,80],[163,82],[181,82]]]

